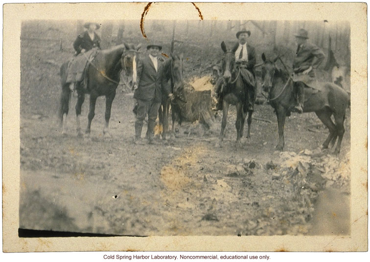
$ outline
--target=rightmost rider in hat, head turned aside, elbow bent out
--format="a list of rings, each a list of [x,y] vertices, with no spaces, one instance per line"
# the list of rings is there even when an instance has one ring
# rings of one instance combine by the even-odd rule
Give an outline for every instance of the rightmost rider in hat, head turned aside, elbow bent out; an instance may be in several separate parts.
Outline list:
[[[298,96],[296,96],[297,104],[293,111],[302,113],[304,106],[304,86],[316,79],[315,70],[323,62],[325,55],[315,44],[307,42],[308,32],[306,30],[300,29],[295,37],[298,47],[297,56],[293,61],[293,70],[297,76],[295,79],[298,80],[295,82],[295,91]]]

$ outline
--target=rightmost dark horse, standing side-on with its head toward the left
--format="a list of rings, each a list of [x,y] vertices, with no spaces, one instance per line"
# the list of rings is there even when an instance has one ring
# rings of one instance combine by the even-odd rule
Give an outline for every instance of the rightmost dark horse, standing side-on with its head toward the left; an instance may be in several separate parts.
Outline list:
[[[279,142],[276,149],[282,151],[284,148],[284,123],[291,105],[295,104],[293,81],[287,71],[277,69],[275,61],[267,60],[262,54],[262,88],[269,93],[270,105],[275,109],[278,124]],[[349,102],[347,92],[341,87],[325,82],[322,90],[307,93],[311,88],[305,88],[305,101],[303,112],[315,112],[324,125],[329,129],[329,135],[324,141],[323,148],[327,149],[329,143],[335,145],[338,137],[337,147],[334,153],[339,153],[344,129],[346,109]],[[331,120],[334,115],[335,124]]]

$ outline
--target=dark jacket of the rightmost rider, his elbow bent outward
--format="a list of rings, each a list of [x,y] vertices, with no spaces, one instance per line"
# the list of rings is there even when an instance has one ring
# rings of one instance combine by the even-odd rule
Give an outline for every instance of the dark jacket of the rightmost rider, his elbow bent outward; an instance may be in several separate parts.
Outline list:
[[[312,66],[316,69],[324,60],[324,52],[315,44],[305,43],[297,48],[297,56],[293,61],[293,69],[296,73],[302,72]]]

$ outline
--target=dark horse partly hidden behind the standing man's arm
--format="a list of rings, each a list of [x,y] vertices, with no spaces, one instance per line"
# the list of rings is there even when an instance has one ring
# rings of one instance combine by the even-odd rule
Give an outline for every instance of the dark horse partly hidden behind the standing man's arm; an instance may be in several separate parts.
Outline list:
[[[168,82],[170,80],[172,98],[170,99],[167,94],[162,95],[162,103],[158,112],[160,126],[162,125],[162,139],[166,140],[168,134],[168,117],[169,109],[172,111],[172,131],[171,137],[175,136],[175,120],[179,108],[176,103],[185,102],[184,100],[184,84],[183,84],[183,55],[176,55],[171,52],[170,59],[164,62],[163,76]]]

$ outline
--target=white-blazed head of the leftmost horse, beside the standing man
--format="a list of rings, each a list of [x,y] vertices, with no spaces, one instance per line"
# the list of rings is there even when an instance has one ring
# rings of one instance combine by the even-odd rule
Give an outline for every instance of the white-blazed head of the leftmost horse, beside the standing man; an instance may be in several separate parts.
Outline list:
[[[135,83],[137,81],[137,71],[136,65],[138,61],[138,53],[141,47],[141,44],[135,46],[134,44],[124,44],[125,50],[121,56],[121,67],[125,72],[126,77],[129,78],[128,82]]]

